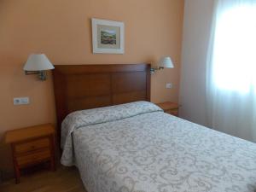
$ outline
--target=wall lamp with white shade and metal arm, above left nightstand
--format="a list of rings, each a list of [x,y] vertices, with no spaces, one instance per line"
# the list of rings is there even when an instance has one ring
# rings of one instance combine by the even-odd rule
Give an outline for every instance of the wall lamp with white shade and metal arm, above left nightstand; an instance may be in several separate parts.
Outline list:
[[[54,69],[49,59],[44,54],[29,55],[25,66],[23,67],[25,74],[37,74],[42,81],[46,80],[46,70]]]

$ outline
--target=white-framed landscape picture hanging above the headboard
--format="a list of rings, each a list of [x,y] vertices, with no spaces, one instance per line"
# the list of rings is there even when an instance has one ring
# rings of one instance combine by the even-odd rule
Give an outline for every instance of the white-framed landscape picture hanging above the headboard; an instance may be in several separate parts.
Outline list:
[[[125,25],[113,20],[91,19],[93,53],[124,54]]]

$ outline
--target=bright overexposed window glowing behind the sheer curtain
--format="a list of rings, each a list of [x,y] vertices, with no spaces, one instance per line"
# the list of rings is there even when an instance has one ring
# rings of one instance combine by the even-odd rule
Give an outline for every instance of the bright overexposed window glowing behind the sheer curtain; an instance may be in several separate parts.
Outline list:
[[[218,89],[256,90],[255,3],[236,3],[218,14],[212,54],[212,77]]]

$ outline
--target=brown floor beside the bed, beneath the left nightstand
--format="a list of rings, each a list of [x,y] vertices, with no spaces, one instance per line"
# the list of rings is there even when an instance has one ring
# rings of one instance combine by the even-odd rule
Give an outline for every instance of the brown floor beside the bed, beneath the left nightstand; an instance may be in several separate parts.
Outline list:
[[[59,168],[55,172],[40,171],[20,177],[0,185],[1,192],[86,192],[75,167]]]

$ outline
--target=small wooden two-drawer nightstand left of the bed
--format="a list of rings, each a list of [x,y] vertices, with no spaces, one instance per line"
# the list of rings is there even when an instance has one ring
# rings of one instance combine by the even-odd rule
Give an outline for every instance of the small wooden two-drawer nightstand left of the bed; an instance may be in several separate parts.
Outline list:
[[[55,128],[37,125],[7,131],[5,142],[11,144],[16,183],[20,183],[20,169],[45,161],[55,171]]]

